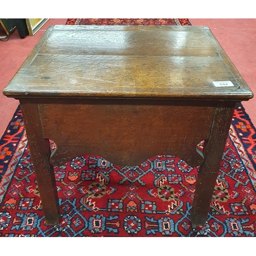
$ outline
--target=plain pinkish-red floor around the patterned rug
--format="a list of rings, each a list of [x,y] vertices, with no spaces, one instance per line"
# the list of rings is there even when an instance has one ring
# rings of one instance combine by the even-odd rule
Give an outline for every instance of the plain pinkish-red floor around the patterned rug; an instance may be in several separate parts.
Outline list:
[[[238,71],[256,95],[256,19],[189,19],[193,26],[208,26]],[[49,19],[34,35],[20,39],[17,31],[0,41],[0,91],[7,86],[47,28],[64,25],[67,19]],[[256,126],[256,96],[242,102]],[[0,93],[0,138],[18,106],[18,101]]]

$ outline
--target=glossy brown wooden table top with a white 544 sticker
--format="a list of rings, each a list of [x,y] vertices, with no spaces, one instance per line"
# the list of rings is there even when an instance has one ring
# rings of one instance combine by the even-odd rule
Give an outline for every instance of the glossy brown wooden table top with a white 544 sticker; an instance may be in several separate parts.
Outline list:
[[[15,98],[253,97],[202,26],[51,26],[3,93]]]

